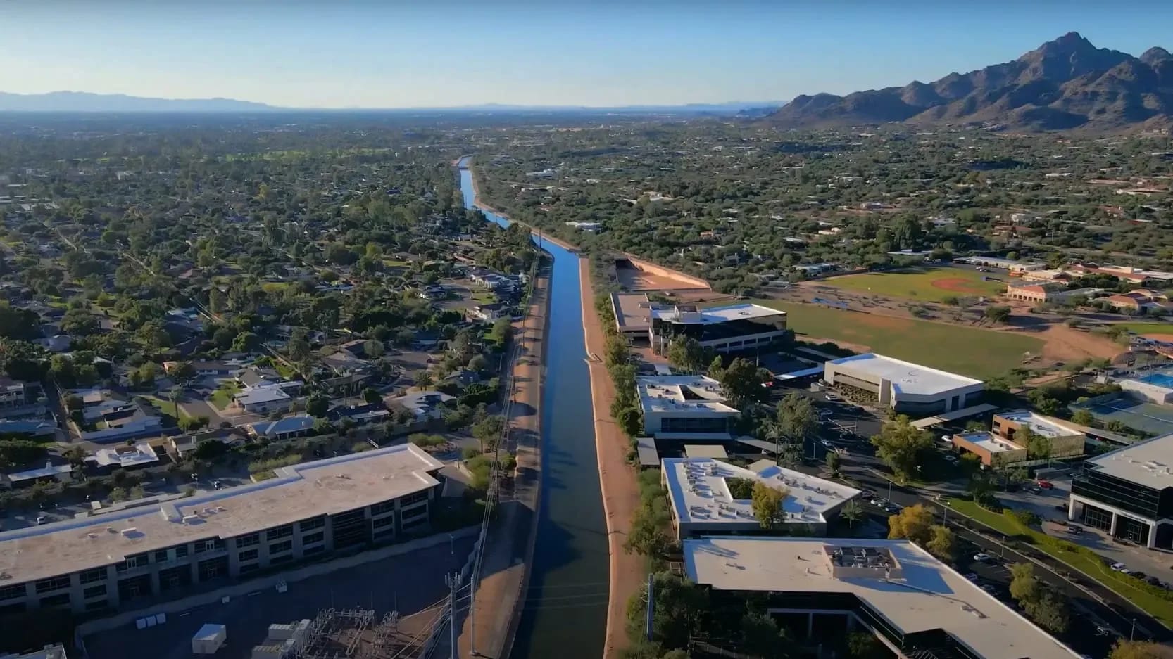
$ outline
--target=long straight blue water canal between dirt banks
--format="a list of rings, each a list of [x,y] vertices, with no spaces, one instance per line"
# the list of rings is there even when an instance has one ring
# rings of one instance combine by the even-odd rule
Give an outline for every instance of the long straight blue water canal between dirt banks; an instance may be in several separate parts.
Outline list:
[[[473,208],[467,164],[467,158],[460,163],[460,188],[465,208]],[[482,212],[490,222],[509,224]],[[606,632],[610,563],[578,254],[548,240],[540,246],[554,257],[542,390],[542,503],[529,592],[511,657],[598,659]]]

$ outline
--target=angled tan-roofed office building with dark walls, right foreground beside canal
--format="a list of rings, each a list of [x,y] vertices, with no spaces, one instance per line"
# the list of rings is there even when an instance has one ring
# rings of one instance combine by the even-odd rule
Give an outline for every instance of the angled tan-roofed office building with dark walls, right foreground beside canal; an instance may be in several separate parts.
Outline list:
[[[714,599],[765,593],[771,614],[815,640],[866,630],[907,659],[1079,657],[908,541],[706,537],[684,541],[684,564]]]

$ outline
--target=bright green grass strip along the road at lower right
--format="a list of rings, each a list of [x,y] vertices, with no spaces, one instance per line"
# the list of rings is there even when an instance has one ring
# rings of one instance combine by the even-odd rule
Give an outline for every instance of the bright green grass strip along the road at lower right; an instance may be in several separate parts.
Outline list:
[[[1005,534],[1013,541],[1029,544],[1066,563],[1071,569],[1083,572],[1133,603],[1165,626],[1173,626],[1173,592],[1147,584],[1135,577],[1121,575],[1108,568],[1103,557],[1086,546],[1032,529],[1005,510],[995,512],[964,498],[943,500],[942,503],[975,522]]]

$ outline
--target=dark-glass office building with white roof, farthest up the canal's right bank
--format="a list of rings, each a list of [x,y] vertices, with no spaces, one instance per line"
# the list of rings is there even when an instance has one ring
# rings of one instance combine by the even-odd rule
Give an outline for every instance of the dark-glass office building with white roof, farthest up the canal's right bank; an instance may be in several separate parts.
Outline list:
[[[649,339],[659,354],[665,354],[677,337],[692,337],[718,353],[768,348],[786,337],[786,312],[754,304],[704,308],[653,305],[649,320]]]

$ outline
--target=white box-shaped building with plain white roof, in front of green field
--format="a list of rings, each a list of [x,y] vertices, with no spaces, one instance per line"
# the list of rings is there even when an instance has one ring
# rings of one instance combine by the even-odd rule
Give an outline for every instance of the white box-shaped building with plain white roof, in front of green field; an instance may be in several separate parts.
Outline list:
[[[875,396],[882,407],[913,415],[964,409],[982,398],[981,380],[875,353],[834,359],[823,380]]]

